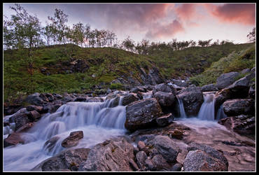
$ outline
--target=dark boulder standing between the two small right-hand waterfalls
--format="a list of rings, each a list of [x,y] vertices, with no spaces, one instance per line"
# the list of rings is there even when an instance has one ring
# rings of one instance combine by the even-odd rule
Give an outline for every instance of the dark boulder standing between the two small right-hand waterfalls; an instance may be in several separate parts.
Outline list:
[[[180,90],[178,98],[182,100],[187,116],[197,116],[204,102],[201,88],[196,86],[189,86]]]

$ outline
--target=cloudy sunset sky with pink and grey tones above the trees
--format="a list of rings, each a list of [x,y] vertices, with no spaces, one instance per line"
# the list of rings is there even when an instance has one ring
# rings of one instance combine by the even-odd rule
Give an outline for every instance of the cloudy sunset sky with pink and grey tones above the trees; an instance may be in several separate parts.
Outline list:
[[[109,29],[118,40],[198,41],[217,39],[246,43],[255,27],[255,3],[20,3],[41,25],[55,8],[69,15],[67,25],[78,22],[91,29]],[[3,15],[15,14],[3,3]]]

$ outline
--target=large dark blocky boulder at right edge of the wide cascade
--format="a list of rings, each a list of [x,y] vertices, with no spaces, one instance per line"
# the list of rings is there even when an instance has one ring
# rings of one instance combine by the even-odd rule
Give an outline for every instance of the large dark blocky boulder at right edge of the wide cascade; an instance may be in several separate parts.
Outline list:
[[[141,99],[126,106],[125,128],[131,132],[155,125],[162,109],[155,98]]]

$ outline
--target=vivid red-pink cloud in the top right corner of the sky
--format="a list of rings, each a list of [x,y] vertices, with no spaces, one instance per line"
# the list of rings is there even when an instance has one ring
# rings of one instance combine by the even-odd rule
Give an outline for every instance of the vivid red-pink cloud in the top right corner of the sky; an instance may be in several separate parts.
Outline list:
[[[225,3],[221,6],[206,4],[205,7],[221,22],[255,25],[255,3]]]

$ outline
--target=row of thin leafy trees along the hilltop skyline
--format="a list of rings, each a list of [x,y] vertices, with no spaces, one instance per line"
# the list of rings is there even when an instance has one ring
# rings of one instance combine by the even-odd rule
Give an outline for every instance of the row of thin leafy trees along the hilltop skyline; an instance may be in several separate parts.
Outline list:
[[[113,31],[105,29],[91,29],[89,24],[84,25],[81,22],[73,24],[73,27],[67,25],[68,15],[62,10],[55,9],[54,16],[48,16],[48,22],[45,27],[41,26],[38,18],[34,15],[29,15],[25,8],[15,3],[14,7],[16,15],[11,15],[3,20],[3,46],[7,49],[28,48],[28,56],[31,55],[31,50],[43,45],[55,45],[73,43],[85,48],[102,48],[112,47],[128,50],[141,55],[149,55],[155,50],[169,48],[172,50],[183,50],[189,47],[207,47],[211,45],[234,44],[232,41],[214,41],[212,38],[207,41],[177,41],[173,38],[168,43],[151,42],[147,39],[136,43],[130,36],[123,41],[118,41],[116,34]],[[247,37],[252,41],[253,33]],[[252,39],[251,39],[252,38]]]

